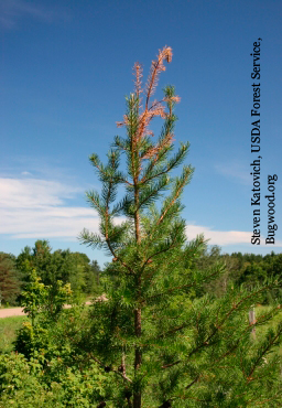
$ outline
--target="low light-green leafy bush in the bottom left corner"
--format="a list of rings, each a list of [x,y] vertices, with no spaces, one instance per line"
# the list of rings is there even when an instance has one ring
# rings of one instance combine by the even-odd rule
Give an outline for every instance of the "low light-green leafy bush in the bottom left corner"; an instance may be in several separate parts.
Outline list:
[[[61,361],[53,359],[48,364],[55,371]],[[15,353],[0,355],[0,407],[90,408],[108,398],[110,389],[110,376],[106,378],[94,361],[83,371],[76,367],[61,371],[57,382],[47,384],[45,379],[40,359],[26,361]]]

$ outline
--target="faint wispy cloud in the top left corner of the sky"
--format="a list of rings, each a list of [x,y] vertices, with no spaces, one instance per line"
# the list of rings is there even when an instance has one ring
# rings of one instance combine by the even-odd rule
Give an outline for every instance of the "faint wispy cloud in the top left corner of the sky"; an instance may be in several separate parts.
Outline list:
[[[68,20],[69,14],[58,8],[50,8],[25,0],[0,0],[0,25],[7,30],[14,29],[20,20],[32,18],[46,23],[55,20]]]

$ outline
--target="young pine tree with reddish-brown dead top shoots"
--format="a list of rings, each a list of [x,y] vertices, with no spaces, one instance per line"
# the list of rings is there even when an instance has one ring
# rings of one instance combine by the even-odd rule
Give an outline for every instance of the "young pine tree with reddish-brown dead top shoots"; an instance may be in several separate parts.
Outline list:
[[[195,294],[218,278],[223,266],[200,270],[195,260],[205,249],[203,237],[186,243],[181,194],[193,169],[184,165],[180,176],[172,176],[188,152],[188,143],[183,143],[173,154],[180,98],[166,86],[163,98],[152,100],[165,61],[171,60],[172,50],[165,46],[152,62],[144,88],[141,65],[135,63],[134,93],[127,97],[127,112],[118,124],[127,136],[115,138],[106,165],[96,154],[90,157],[102,189],[88,192],[87,200],[99,214],[100,234],[85,229],[80,239],[105,248],[112,262],[105,272],[105,301],[94,302],[82,346],[117,378],[111,397],[99,406],[276,404],[278,357],[268,354],[279,342],[281,326],[254,344],[248,322],[250,305],[269,284],[251,293],[229,287],[220,299]],[[149,127],[155,117],[163,119],[158,140]],[[126,171],[119,169],[122,155]],[[124,196],[117,202],[121,187]]]

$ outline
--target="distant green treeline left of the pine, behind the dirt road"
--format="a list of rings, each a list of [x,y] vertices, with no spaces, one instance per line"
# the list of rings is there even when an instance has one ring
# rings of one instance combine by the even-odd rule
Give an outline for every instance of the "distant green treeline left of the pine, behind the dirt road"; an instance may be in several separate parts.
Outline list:
[[[100,268],[87,255],[69,249],[52,251],[47,240],[36,240],[33,248],[24,247],[15,257],[0,253],[0,300],[2,304],[20,304],[21,292],[35,269],[41,281],[47,286],[57,280],[70,283],[75,294],[98,293]]]

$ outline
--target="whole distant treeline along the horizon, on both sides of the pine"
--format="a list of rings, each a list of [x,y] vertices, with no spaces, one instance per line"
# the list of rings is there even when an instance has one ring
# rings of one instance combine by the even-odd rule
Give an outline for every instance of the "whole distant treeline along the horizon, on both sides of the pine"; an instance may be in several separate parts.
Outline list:
[[[192,297],[202,297],[206,292],[221,297],[228,286],[243,284],[247,289],[254,289],[269,279],[281,280],[282,254],[234,253],[221,254],[220,247],[213,246],[195,260],[191,268],[213,269],[223,265],[224,272],[217,280],[205,283],[200,290],[192,290]],[[33,248],[24,247],[15,257],[0,253],[0,299],[2,304],[20,304],[21,292],[29,282],[32,270],[44,284],[56,284],[57,280],[70,283],[75,294],[94,296],[100,293],[100,267],[96,260],[90,261],[87,255],[72,253],[69,249],[57,249],[52,253],[47,240],[36,240]],[[194,292],[193,292],[194,291]],[[273,300],[282,301],[282,288],[273,289],[265,294],[264,304]]]

